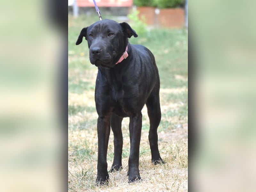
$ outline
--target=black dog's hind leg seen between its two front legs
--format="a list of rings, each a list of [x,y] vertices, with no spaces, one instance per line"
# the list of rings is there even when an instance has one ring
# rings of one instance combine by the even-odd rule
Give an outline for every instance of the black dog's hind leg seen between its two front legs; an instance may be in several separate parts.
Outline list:
[[[122,135],[122,120],[123,117],[111,115],[111,129],[114,134],[114,161],[110,172],[119,171],[122,168],[122,150],[123,150],[123,135]]]

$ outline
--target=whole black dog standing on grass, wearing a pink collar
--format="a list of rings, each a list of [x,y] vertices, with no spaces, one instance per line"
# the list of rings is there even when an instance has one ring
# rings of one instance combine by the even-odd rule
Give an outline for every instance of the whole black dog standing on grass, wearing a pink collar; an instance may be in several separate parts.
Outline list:
[[[128,38],[137,37],[129,24],[100,20],[83,28],[76,45],[88,41],[90,61],[98,67],[95,87],[99,115],[97,182],[108,180],[107,150],[110,125],[114,133],[114,161],[110,172],[122,167],[123,117],[130,117],[129,182],[141,180],[139,173],[141,109],[147,105],[150,120],[149,143],[152,163],[165,163],[159,155],[157,127],[161,120],[160,81],[154,55],[142,45],[131,45]]]

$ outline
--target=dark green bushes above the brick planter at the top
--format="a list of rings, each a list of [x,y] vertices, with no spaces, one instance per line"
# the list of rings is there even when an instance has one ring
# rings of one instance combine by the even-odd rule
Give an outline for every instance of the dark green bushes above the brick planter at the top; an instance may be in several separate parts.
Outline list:
[[[133,0],[133,4],[139,7],[175,8],[182,7],[185,0]]]

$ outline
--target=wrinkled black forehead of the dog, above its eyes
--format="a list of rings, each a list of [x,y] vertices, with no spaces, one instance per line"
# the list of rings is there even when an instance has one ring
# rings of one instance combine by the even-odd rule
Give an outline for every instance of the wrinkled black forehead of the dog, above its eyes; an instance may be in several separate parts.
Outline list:
[[[88,32],[122,32],[121,25],[114,20],[100,20],[93,23],[89,28]]]

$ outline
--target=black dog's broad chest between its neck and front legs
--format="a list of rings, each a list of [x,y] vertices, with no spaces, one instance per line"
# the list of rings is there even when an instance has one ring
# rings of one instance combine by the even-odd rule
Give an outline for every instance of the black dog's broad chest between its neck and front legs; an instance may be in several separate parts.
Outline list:
[[[147,94],[146,86],[133,81],[131,75],[121,73],[106,73],[105,75],[99,75],[99,82],[96,84],[98,98],[96,102],[97,106],[101,106],[98,111],[109,108],[113,109],[116,115],[127,117],[143,108]]]

